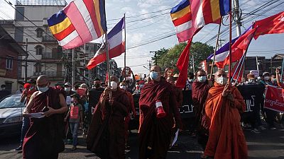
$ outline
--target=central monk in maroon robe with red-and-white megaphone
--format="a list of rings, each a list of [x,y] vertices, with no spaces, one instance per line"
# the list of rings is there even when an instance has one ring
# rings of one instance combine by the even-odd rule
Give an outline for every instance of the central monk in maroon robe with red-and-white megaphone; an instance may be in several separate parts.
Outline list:
[[[173,85],[161,78],[160,66],[152,66],[150,77],[139,100],[139,159],[166,158],[171,129],[182,129]]]

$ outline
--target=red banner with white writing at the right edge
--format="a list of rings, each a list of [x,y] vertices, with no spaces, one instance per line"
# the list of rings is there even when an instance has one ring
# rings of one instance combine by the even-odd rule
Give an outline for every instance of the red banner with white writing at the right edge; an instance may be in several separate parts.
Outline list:
[[[277,112],[284,112],[284,90],[275,86],[268,86],[264,107]]]

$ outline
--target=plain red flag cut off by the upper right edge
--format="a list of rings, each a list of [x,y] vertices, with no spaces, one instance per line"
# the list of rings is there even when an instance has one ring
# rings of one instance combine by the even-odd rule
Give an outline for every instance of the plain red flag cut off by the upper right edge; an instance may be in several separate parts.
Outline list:
[[[253,36],[254,39],[260,35],[284,33],[284,11],[256,21],[253,28],[257,28],[256,34]]]

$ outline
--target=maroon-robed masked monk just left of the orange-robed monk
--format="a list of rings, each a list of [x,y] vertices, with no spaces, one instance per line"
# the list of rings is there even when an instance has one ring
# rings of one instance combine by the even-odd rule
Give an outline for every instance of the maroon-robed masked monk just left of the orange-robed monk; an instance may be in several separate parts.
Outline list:
[[[211,80],[207,80],[206,72],[203,70],[197,71],[195,74],[196,81],[192,83],[192,105],[195,112],[195,124],[197,128],[197,141],[205,150],[208,140],[208,126],[205,118],[205,101],[208,95],[208,90],[212,87]]]

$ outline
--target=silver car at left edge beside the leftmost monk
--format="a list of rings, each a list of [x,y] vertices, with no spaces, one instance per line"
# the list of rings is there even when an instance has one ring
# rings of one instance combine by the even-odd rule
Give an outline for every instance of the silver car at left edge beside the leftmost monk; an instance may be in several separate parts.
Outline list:
[[[25,105],[21,95],[9,95],[0,102],[0,137],[21,134],[22,112]]]

